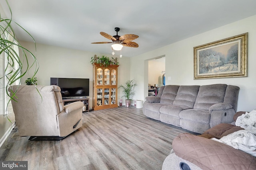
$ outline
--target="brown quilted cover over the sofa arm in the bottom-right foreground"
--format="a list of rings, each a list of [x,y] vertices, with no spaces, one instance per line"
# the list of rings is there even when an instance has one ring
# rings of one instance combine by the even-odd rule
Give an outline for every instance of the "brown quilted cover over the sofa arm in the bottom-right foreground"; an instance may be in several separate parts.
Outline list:
[[[182,133],[172,141],[177,156],[204,170],[255,170],[256,158],[223,143]]]

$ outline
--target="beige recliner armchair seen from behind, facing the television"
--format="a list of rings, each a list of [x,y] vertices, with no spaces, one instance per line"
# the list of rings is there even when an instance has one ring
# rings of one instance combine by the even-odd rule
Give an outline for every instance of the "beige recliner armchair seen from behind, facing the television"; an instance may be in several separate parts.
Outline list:
[[[20,136],[62,140],[82,126],[83,102],[64,106],[59,86],[15,85],[8,91],[16,91],[12,107]]]

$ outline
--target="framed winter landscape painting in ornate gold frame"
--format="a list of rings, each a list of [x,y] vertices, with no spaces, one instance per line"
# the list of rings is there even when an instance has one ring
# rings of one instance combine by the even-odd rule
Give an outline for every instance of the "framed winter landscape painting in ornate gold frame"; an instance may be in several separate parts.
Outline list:
[[[194,47],[194,80],[247,76],[247,38],[243,33]]]

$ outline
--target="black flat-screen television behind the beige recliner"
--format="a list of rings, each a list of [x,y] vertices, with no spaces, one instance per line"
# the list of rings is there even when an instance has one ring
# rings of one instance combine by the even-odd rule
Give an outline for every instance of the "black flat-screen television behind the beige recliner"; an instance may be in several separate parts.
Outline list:
[[[54,78],[51,85],[60,87],[62,98],[82,98],[89,96],[89,78]]]

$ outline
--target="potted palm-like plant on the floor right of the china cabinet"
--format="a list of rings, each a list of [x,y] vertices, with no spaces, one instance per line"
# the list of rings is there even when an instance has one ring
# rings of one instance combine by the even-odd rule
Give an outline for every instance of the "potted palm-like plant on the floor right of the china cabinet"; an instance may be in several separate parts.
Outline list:
[[[134,96],[134,86],[136,86],[137,84],[134,82],[134,80],[127,80],[125,85],[123,86],[122,84],[118,87],[118,88],[123,88],[123,93],[125,97],[125,106],[131,106],[131,100],[132,97]]]

